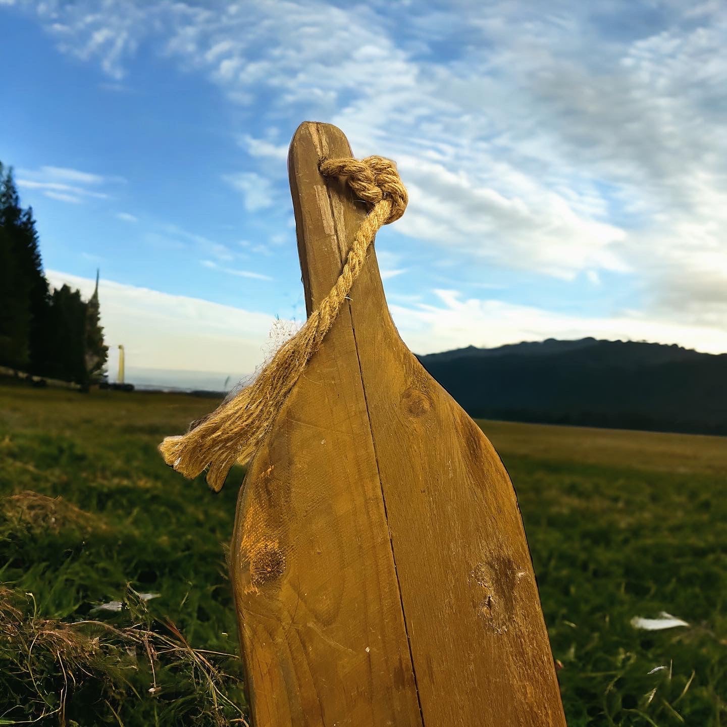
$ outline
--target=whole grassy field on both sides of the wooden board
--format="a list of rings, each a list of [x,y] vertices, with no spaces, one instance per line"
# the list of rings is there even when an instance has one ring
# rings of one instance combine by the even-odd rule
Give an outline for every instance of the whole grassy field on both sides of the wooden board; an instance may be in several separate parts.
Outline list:
[[[0,725],[245,723],[225,565],[242,473],[213,496],[156,453],[212,404],[0,387]],[[569,726],[727,725],[727,439],[481,425]],[[631,624],[661,611],[688,627]]]

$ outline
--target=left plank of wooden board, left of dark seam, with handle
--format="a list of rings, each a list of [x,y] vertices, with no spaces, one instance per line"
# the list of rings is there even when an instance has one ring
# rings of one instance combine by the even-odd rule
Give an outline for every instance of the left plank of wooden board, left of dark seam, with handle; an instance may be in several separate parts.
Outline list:
[[[299,129],[289,167],[309,310],[349,232],[324,154],[350,156],[345,137]],[[256,727],[422,725],[348,307],[249,465],[231,566]]]

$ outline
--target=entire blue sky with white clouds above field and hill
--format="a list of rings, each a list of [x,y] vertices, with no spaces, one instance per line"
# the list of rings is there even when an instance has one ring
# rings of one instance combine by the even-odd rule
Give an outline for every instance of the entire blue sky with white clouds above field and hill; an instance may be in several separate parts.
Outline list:
[[[0,28],[0,160],[51,281],[101,268],[137,376],[248,374],[275,318],[305,316],[304,119],[398,162],[411,204],[377,254],[417,353],[727,351],[719,2],[0,0]]]

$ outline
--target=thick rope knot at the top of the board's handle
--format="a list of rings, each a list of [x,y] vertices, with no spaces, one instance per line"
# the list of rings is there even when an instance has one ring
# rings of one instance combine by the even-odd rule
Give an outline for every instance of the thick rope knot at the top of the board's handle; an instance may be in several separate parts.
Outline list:
[[[395,222],[404,214],[409,194],[396,164],[383,156],[367,156],[365,159],[324,159],[320,164],[321,174],[326,177],[347,177],[348,186],[361,201],[375,206],[381,201],[390,204],[390,211],[382,222]]]

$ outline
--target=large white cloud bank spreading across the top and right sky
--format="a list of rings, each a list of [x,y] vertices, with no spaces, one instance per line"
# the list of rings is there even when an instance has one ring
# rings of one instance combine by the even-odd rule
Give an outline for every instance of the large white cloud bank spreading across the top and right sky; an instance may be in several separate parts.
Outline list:
[[[726,5],[104,8],[36,5],[65,52],[112,78],[154,36],[268,124],[240,138],[258,171],[225,177],[249,211],[284,188],[293,119],[332,121],[359,156],[398,161],[411,206],[397,228],[417,244],[563,280],[621,273],[644,320],[727,328]]]

